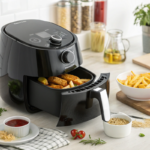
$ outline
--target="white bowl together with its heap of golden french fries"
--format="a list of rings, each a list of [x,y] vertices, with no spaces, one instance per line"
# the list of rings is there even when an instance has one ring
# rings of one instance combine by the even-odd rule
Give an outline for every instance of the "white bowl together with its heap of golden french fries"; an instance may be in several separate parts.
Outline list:
[[[150,72],[127,71],[116,78],[122,92],[136,101],[150,100]]]

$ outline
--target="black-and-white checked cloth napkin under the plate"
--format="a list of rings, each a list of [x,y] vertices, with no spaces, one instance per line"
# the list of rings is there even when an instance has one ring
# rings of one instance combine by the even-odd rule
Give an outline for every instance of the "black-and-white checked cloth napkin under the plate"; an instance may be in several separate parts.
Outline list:
[[[28,143],[1,146],[0,150],[54,150],[68,145],[67,134],[56,129],[40,128],[39,135]]]

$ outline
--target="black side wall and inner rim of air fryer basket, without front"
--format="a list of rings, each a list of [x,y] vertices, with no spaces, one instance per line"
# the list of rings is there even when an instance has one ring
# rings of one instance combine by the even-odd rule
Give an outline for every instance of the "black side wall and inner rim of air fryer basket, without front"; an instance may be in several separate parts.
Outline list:
[[[60,115],[61,109],[61,93],[65,91],[75,90],[93,83],[95,74],[85,68],[78,67],[69,72],[83,79],[91,79],[89,82],[70,89],[53,89],[38,82],[37,77],[24,77],[25,104],[29,112],[44,110],[52,115]],[[38,108],[38,109],[36,109]]]

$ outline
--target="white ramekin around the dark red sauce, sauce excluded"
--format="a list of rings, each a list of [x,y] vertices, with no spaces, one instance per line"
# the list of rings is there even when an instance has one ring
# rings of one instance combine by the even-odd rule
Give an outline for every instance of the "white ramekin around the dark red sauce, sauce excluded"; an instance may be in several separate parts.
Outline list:
[[[28,122],[28,124],[21,126],[21,127],[12,127],[12,126],[8,126],[5,123],[13,120],[13,119],[22,119]],[[29,134],[29,130],[30,130],[30,119],[27,117],[23,117],[23,116],[13,116],[13,117],[9,117],[6,118],[4,120],[4,130],[8,133],[12,133],[15,137],[21,138],[21,137],[25,137]]]

